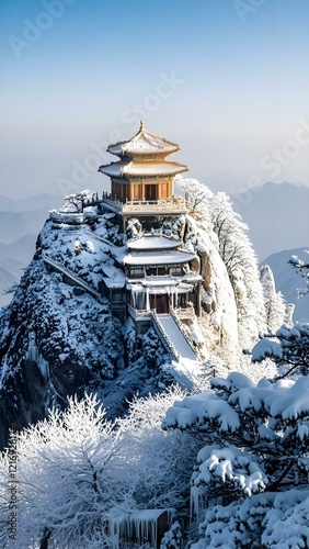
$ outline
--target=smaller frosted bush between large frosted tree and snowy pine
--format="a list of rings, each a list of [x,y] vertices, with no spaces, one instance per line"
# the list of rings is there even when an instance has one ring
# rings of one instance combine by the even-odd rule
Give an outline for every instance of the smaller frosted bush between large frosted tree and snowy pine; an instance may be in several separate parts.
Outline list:
[[[130,485],[138,508],[175,507],[184,512],[196,446],[190,434],[164,432],[161,422],[169,406],[184,393],[169,392],[135,399],[129,413],[118,421],[130,471]]]

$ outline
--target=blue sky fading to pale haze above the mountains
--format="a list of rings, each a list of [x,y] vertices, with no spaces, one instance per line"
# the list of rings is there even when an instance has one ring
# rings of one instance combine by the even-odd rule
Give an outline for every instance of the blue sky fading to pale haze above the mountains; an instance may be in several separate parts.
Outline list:
[[[0,194],[106,190],[106,146],[140,119],[206,184],[309,184],[308,0],[1,0],[0,16]]]

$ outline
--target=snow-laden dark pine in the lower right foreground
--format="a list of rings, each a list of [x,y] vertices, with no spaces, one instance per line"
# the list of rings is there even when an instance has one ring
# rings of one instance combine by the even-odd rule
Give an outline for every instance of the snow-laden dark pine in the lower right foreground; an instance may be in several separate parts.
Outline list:
[[[168,411],[165,428],[205,444],[192,477],[203,519],[192,548],[308,547],[308,390],[309,378],[254,383],[231,373]]]

